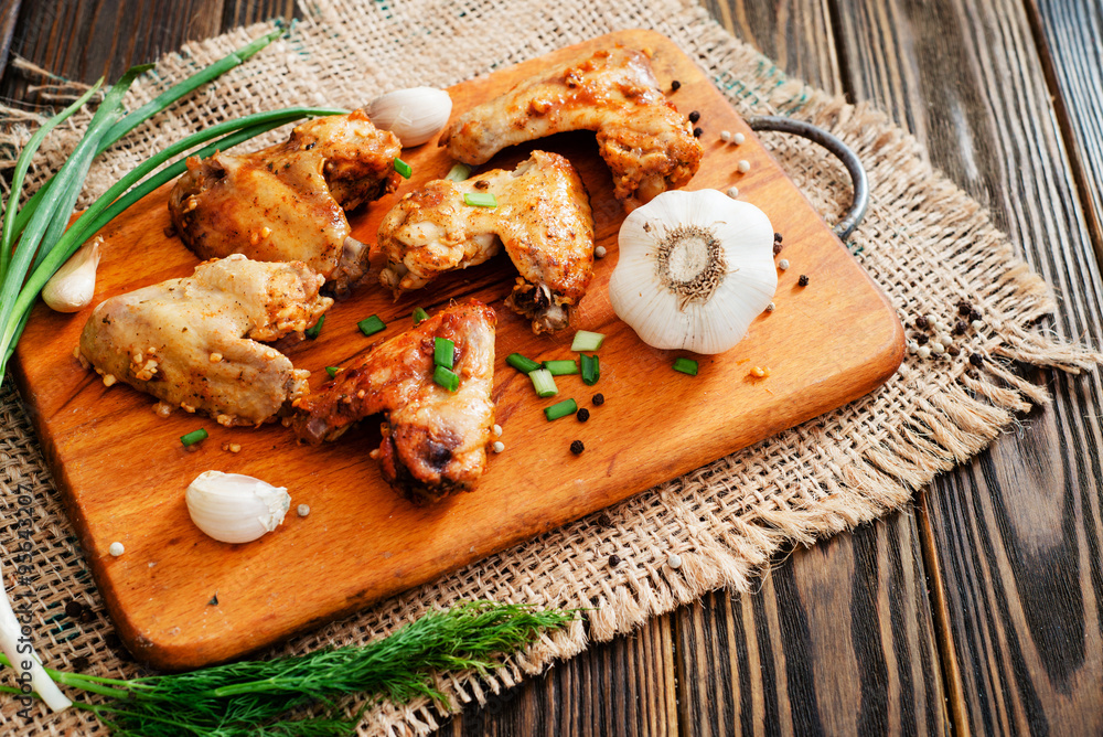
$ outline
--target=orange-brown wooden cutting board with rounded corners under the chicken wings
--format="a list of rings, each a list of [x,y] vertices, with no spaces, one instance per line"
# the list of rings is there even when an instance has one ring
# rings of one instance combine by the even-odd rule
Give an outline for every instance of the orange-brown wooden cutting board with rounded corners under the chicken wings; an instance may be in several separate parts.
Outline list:
[[[593,135],[565,133],[503,152],[488,167],[512,167],[535,146],[563,153],[590,192],[598,242],[609,255],[596,264],[575,327],[608,335],[597,386],[578,376],[558,377],[559,395],[542,400],[527,377],[506,365],[514,351],[536,360],[575,354],[574,330],[535,337],[502,306],[514,280],[504,255],[397,302],[366,284],[334,306],[317,341],[289,352],[297,367],[314,372],[317,387],[326,378],[325,366],[408,329],[417,306],[432,312],[468,296],[493,306],[499,316],[494,399],[506,450],[492,455],[473,493],[424,509],[399,498],[368,458],[379,440],[374,419],[321,448],[297,445],[279,424],[227,429],[180,410],[161,419],[151,397],[121,384],[105,387],[73,357],[90,309],[63,316],[35,308],[17,352],[15,378],[119,635],[139,660],[186,669],[239,656],[838,407],[896,371],[903,331],[885,297],[720,93],[666,38],[614,33],[463,83],[450,89],[453,115],[525,77],[546,74],[582,49],[613,43],[650,50],[663,87],[682,83],[671,94],[678,109],[700,113],[705,159],[687,189],[737,185],[740,199],[765,211],[784,235],[782,256],[792,267],[779,273],[777,310],[762,314],[742,342],[720,355],[694,356],[700,361],[696,377],[675,373],[672,363],[685,353],[647,348],[609,305],[624,214]],[[747,140],[726,145],[721,129]],[[374,243],[383,214],[397,199],[442,177],[452,163],[435,142],[408,149],[403,158],[414,168],[411,181],[353,218],[361,241]],[[737,170],[740,159],[751,164],[746,174]],[[163,234],[167,195],[168,189],[151,194],[105,229],[96,302],[190,275],[199,263],[179,238]],[[373,263],[374,277],[382,259]],[[811,279],[803,288],[802,274]],[[356,322],[376,313],[387,329],[364,338]],[[752,366],[769,367],[770,376],[752,377]],[[602,406],[591,403],[598,392],[606,397]],[[588,423],[545,420],[542,408],[567,397],[590,409]],[[210,438],[189,452],[178,438],[200,427]],[[569,450],[576,439],[586,445],[580,456]],[[240,452],[224,450],[229,442],[239,444]],[[292,511],[279,530],[257,542],[215,542],[191,523],[184,505],[184,489],[207,469],[285,485]],[[297,516],[297,504],[309,504],[309,516]],[[116,541],[126,547],[120,557],[108,554]]]

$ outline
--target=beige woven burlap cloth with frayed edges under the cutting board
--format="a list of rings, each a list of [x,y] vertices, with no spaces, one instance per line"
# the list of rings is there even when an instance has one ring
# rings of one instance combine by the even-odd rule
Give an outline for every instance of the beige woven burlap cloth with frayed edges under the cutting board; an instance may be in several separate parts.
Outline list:
[[[984,448],[1013,421],[1013,413],[1047,402],[1045,389],[1019,378],[1011,362],[1067,371],[1094,362],[1035,327],[1054,307],[1049,289],[979,205],[924,163],[912,138],[865,106],[786,79],[694,2],[332,0],[304,10],[307,20],[286,40],[104,156],[84,196],[99,194],[139,160],[203,124],[292,104],[356,107],[387,89],[447,86],[609,31],[652,28],[696,58],[745,115],[811,120],[857,151],[872,196],[847,245],[904,321],[934,313],[952,322],[957,300],[965,298],[984,313],[986,327],[966,341],[984,357],[979,370],[963,356],[924,360],[909,353],[900,371],[864,399],[266,655],[363,643],[460,599],[593,607],[585,623],[545,638],[492,679],[441,683],[453,708],[481,703],[488,692],[580,652],[590,640],[608,640],[718,587],[747,590],[784,545],[811,544],[906,503],[935,473]],[[130,106],[264,30],[238,30],[170,54],[135,85]],[[77,119],[76,127],[86,120]],[[29,133],[13,125],[12,111],[8,122],[9,138],[25,141]],[[33,178],[41,181],[75,140],[72,129],[52,136]],[[767,142],[828,220],[846,209],[850,189],[834,159],[793,137],[768,135]],[[31,596],[36,645],[46,664],[132,676],[140,669],[118,644],[10,386],[6,382],[0,392],[0,555],[11,560],[21,542],[19,522],[29,511],[34,587],[20,588],[13,576],[6,584],[14,595]],[[26,511],[17,516],[17,509]],[[671,553],[682,557],[677,570],[666,565]],[[607,564],[613,554],[622,560],[615,568]],[[11,566],[6,570],[11,574]],[[3,734],[105,731],[86,713],[52,716],[36,706],[28,722],[15,715],[12,699],[3,702]],[[425,701],[383,704],[368,713],[361,734],[422,734],[440,715]]]

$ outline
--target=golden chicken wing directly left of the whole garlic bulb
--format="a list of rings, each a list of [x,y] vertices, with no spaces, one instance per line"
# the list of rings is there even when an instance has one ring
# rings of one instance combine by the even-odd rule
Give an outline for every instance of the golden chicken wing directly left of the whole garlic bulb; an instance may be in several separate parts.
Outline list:
[[[464,204],[472,192],[493,194],[497,206]],[[593,275],[593,216],[567,159],[533,151],[513,171],[435,180],[410,192],[379,225],[378,247],[388,259],[379,280],[397,298],[482,264],[502,245],[521,273],[506,305],[532,320],[536,333],[566,328]]]

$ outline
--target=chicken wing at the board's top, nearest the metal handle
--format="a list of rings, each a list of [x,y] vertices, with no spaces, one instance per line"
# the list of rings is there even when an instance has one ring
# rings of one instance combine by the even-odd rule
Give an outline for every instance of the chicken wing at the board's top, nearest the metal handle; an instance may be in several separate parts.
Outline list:
[[[480,164],[507,146],[565,130],[593,130],[617,199],[634,210],[689,181],[700,165],[693,126],[666,100],[642,52],[623,46],[523,82],[454,120],[449,154]]]

